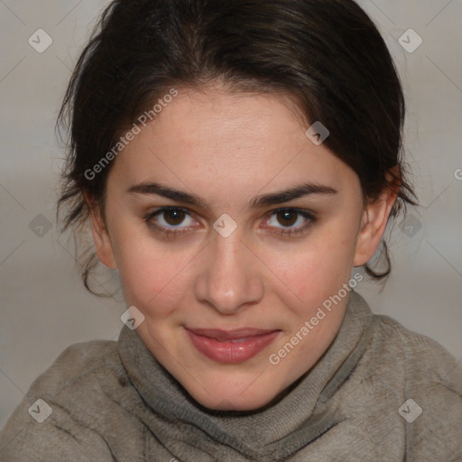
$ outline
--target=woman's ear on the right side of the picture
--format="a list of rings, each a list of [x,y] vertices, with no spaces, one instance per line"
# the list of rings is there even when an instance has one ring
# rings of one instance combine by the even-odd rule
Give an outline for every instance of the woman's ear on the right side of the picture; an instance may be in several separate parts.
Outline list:
[[[357,236],[354,266],[361,266],[369,261],[380,244],[393,204],[398,198],[401,173],[398,166],[385,173],[388,185],[381,195],[369,203],[363,213],[361,228]]]

